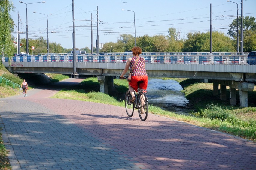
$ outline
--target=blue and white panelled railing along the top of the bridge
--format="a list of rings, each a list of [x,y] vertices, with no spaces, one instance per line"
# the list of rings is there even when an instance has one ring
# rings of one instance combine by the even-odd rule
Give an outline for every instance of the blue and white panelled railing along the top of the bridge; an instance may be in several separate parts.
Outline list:
[[[76,62],[126,63],[132,55],[77,55]],[[152,64],[250,64],[256,65],[256,56],[245,55],[140,55]],[[2,57],[8,62],[9,57]],[[73,62],[73,55],[33,55],[10,57],[12,62]]]

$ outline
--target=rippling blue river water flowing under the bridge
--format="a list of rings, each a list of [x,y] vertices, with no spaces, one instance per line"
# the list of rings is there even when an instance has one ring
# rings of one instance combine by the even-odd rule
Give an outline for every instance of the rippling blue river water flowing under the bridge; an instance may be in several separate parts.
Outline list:
[[[181,85],[175,80],[148,79],[148,103],[175,113],[188,113],[190,109]]]

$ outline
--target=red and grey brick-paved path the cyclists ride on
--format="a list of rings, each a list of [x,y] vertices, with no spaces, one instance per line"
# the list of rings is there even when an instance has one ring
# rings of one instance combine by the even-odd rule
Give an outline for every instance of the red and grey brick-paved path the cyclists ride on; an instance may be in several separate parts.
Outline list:
[[[256,169],[251,141],[152,114],[143,122],[123,107],[48,98],[79,82],[0,99],[13,170]]]

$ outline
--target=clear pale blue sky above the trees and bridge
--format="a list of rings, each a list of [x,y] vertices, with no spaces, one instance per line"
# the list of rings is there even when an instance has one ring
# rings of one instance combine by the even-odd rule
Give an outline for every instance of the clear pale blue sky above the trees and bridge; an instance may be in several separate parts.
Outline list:
[[[22,0],[24,3],[40,0]],[[28,4],[29,38],[43,36],[47,40],[48,16],[49,42],[60,43],[72,48],[72,0],[45,0],[45,3]],[[232,1],[232,0],[231,0]],[[12,0],[12,18],[18,25],[20,15],[20,38],[26,38],[26,4]],[[125,3],[123,3],[125,2]],[[238,4],[241,16],[241,0]],[[168,28],[174,27],[186,38],[188,32],[210,31],[210,4],[212,4],[212,31],[227,33],[228,25],[236,19],[237,4],[226,0],[74,0],[76,48],[91,47],[91,13],[93,20],[93,46],[97,36],[97,6],[99,13],[99,43],[117,42],[121,34],[134,36],[134,13],[136,37],[148,34],[168,35]],[[243,16],[256,18],[256,0],[243,1]],[[125,10],[121,10],[125,9]],[[33,12],[37,13],[33,13]],[[17,33],[16,27],[14,31]],[[14,34],[14,37],[17,37]]]

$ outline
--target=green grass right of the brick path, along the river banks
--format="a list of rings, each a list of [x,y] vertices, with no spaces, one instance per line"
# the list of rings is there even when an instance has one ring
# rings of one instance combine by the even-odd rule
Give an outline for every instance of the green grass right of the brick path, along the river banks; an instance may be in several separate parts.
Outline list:
[[[213,87],[211,83],[197,83],[190,80],[185,81],[186,83],[184,84],[187,84],[187,86],[183,91],[185,92],[186,97],[191,98],[190,100],[192,100],[194,106],[197,107],[195,112],[190,113],[191,115],[180,115],[162,110],[156,106],[150,106],[149,112],[256,141],[255,107],[232,107],[223,102],[219,102],[217,97],[216,101],[221,103],[221,106],[218,105],[218,102],[213,104],[212,96],[210,96],[212,95],[212,91],[209,89],[210,86],[211,88]],[[192,82],[194,84],[188,85],[187,82]],[[111,95],[99,93],[99,82],[97,81],[97,78],[88,78],[81,82],[80,85],[73,87],[72,89],[62,90],[52,98],[82,100],[124,107],[123,99],[124,93],[128,89],[127,81],[114,79],[114,86],[116,90],[114,93],[111,93]],[[91,89],[93,89],[93,91],[90,91]],[[198,98],[198,91],[202,92],[200,98]],[[193,100],[195,96],[197,99]],[[206,100],[208,97],[211,100]]]

